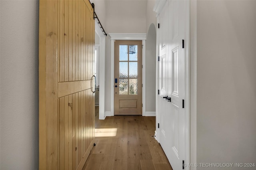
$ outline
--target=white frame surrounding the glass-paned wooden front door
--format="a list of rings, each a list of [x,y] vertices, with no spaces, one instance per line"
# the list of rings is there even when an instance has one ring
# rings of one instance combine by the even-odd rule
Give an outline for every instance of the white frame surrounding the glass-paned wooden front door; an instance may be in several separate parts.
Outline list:
[[[146,59],[145,59],[145,53],[146,53],[146,33],[142,34],[116,34],[112,33],[110,35],[111,40],[111,65],[110,65],[110,112],[105,112],[105,116],[114,116],[114,42],[115,40],[142,40],[142,84],[144,86],[142,87],[142,116],[146,116],[146,105],[145,105],[145,98],[146,98],[146,88],[145,88],[145,73],[146,73]]]

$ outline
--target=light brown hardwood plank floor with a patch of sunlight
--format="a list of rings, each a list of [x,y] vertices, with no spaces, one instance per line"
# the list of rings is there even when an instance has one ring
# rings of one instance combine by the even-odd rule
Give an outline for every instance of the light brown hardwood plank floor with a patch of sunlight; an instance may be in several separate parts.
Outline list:
[[[96,146],[83,170],[172,170],[152,137],[155,117],[128,115],[99,120],[95,108]]]

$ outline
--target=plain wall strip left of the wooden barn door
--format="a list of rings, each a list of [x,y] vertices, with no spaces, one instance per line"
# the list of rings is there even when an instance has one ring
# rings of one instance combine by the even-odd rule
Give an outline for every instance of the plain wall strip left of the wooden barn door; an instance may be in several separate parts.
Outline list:
[[[0,169],[38,169],[39,1],[0,1]]]

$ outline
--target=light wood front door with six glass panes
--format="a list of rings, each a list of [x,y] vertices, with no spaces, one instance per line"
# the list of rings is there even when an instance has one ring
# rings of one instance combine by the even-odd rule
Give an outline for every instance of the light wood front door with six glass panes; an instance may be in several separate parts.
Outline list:
[[[142,41],[116,40],[114,115],[142,115]]]

